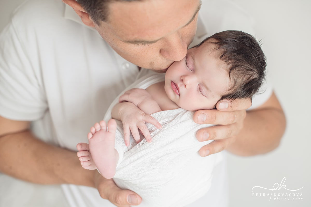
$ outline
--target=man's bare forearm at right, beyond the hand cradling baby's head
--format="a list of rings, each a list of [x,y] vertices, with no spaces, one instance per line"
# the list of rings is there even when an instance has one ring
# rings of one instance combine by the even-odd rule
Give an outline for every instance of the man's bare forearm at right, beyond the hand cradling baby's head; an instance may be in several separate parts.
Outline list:
[[[241,156],[264,154],[275,149],[285,131],[286,120],[274,94],[263,106],[247,112],[244,127],[228,151]]]

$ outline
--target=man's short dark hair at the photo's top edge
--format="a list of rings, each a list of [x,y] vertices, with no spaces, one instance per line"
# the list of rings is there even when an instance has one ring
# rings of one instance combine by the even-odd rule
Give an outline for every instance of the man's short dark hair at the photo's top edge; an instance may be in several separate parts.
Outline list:
[[[113,2],[132,2],[140,0],[77,0],[81,7],[90,15],[95,24],[100,26],[100,21],[108,21],[109,4]]]

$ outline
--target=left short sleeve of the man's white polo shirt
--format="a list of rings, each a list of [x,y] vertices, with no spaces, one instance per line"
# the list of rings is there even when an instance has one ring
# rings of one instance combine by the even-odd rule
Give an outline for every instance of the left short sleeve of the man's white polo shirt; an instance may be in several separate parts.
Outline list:
[[[24,44],[18,34],[24,35]],[[35,51],[36,46],[27,45],[27,38],[35,38],[35,34],[16,32],[12,22],[0,34],[0,115],[33,121],[41,118],[48,106],[40,70],[33,67],[31,59],[38,54],[27,52],[29,47]]]

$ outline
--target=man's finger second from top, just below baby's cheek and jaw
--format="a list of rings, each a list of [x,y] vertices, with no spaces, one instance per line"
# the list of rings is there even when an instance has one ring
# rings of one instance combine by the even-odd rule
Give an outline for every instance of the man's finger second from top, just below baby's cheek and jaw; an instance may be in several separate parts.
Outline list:
[[[246,111],[219,111],[213,110],[199,110],[193,115],[193,120],[197,124],[221,124],[228,125],[245,118]]]

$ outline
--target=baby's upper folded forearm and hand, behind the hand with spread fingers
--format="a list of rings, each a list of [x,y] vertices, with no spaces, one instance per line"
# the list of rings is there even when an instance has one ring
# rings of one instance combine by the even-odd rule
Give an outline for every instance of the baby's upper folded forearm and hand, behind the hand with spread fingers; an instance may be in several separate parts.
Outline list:
[[[149,92],[141,88],[132,88],[126,91],[119,98],[119,102],[128,101],[137,106],[144,113],[151,115],[161,111],[158,103],[152,98]]]

